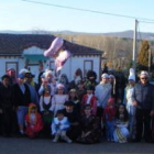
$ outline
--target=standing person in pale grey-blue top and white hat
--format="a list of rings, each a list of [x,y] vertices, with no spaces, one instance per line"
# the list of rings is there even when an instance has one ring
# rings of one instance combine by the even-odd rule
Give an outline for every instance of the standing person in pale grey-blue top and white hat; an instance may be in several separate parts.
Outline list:
[[[101,118],[103,109],[107,106],[108,99],[111,97],[111,84],[109,82],[109,75],[102,74],[101,81],[96,86],[95,96],[97,98],[98,111],[97,116]]]

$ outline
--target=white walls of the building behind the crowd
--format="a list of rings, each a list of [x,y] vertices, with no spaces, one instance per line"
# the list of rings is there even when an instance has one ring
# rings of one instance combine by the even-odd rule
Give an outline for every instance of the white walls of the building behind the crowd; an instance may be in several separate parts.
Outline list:
[[[51,59],[54,61],[54,59]],[[23,57],[0,57],[0,77],[6,74],[8,68],[15,68],[16,74],[24,68],[25,58]],[[66,74],[69,81],[74,79],[75,72],[80,68],[84,74],[84,62],[92,62],[92,70],[98,75],[97,80],[99,80],[100,73],[100,58],[99,56],[73,56],[70,57],[62,68],[62,74]],[[34,62],[35,63],[35,62]],[[33,64],[33,62],[31,62]],[[44,63],[44,69],[50,68],[50,62]],[[38,65],[31,66],[31,72],[35,75],[34,80],[37,81]]]

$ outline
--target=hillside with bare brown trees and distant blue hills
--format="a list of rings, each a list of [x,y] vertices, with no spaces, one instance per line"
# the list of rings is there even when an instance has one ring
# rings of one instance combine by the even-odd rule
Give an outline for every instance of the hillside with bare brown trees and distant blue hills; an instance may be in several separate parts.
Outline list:
[[[122,67],[130,65],[133,51],[133,31],[117,32],[117,33],[78,33],[72,31],[1,31],[0,33],[24,33],[24,34],[53,34],[72,43],[81,44],[92,48],[102,51],[103,57],[107,58],[105,63],[110,68]],[[148,40],[151,47],[154,46],[154,33],[139,33],[136,50],[140,51],[141,40]],[[103,65],[103,64],[102,64]],[[102,66],[103,67],[103,66]]]

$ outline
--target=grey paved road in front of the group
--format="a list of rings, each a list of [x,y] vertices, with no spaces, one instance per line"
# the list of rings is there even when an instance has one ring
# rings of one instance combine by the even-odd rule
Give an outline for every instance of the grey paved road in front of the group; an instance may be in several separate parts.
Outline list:
[[[154,154],[154,143],[108,143],[82,145],[52,143],[50,139],[0,138],[0,154]]]

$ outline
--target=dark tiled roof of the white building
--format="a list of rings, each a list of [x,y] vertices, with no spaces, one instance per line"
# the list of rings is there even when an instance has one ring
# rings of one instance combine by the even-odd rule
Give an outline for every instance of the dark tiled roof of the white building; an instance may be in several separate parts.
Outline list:
[[[47,50],[56,36],[46,34],[0,34],[0,55],[22,55],[23,50],[37,46]],[[102,52],[65,41],[73,55],[101,55]]]

